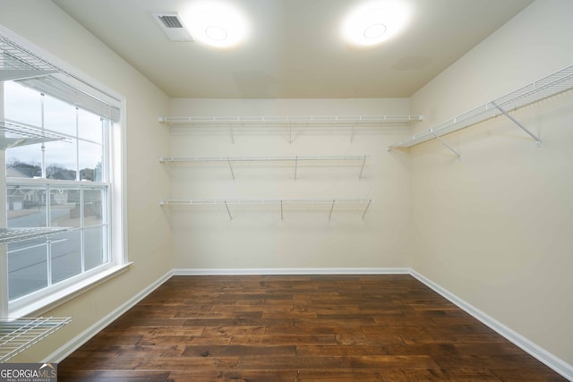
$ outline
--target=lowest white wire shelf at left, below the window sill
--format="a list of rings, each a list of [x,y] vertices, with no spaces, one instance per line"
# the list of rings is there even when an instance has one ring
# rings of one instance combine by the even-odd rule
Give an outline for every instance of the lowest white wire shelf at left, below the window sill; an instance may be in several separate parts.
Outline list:
[[[71,321],[69,317],[0,319],[0,362],[11,360]]]

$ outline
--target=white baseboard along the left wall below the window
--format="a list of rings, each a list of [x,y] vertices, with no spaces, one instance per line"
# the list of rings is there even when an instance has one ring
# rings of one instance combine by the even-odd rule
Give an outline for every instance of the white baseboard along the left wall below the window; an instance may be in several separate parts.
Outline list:
[[[165,275],[159,277],[153,284],[143,289],[140,293],[137,293],[128,301],[125,301],[121,306],[117,307],[115,310],[111,311],[107,316],[101,318],[93,324],[92,326],[81,332],[80,335],[76,335],[73,340],[69,341],[67,344],[52,352],[46,357],[42,362],[60,362],[63,361],[65,357],[75,352],[82,344],[85,344],[94,335],[97,335],[101,330],[107,327],[109,324],[119,318],[127,310],[130,310],[135,304],[143,300],[151,292],[155,291],[159,285],[165,283],[171,276],[173,276],[173,271],[167,272]]]

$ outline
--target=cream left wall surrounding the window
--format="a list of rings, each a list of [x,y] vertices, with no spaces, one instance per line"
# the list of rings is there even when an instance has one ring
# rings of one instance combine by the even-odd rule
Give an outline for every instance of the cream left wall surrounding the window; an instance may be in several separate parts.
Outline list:
[[[125,240],[134,263],[128,272],[45,313],[71,316],[72,323],[14,359],[39,361],[171,269],[169,225],[158,207],[170,183],[157,162],[170,145],[157,123],[157,116],[167,113],[168,99],[50,1],[3,0],[0,24],[127,99]]]

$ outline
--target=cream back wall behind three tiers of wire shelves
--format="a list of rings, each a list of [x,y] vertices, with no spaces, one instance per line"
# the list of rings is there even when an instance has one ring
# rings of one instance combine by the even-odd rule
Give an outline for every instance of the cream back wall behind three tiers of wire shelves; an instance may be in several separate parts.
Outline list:
[[[171,115],[408,115],[407,99],[172,99]],[[360,163],[166,165],[174,199],[374,199],[363,209],[166,208],[172,217],[175,268],[224,269],[408,267],[409,159],[386,151],[404,127],[288,130],[262,126],[174,128],[172,156],[371,156]],[[165,153],[166,156],[169,153]],[[168,198],[168,195],[166,195]]]

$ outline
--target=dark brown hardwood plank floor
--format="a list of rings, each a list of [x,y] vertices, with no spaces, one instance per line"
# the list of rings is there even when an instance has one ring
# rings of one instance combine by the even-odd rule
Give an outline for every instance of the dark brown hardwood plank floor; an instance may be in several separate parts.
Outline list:
[[[174,276],[58,381],[564,381],[412,276]]]

